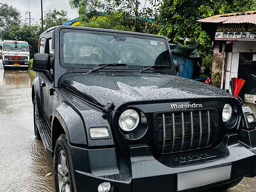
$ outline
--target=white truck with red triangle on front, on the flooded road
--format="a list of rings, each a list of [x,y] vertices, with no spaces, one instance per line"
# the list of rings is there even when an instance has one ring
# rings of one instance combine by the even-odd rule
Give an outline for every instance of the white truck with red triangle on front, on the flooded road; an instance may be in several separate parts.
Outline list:
[[[4,40],[0,46],[4,70],[22,68],[28,70],[29,45],[25,41]]]

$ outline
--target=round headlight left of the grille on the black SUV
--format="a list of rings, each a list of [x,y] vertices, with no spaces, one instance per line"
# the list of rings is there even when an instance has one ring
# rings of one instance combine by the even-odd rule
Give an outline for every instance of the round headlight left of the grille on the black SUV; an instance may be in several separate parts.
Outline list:
[[[140,116],[136,110],[128,109],[119,117],[119,126],[124,131],[133,131],[139,124]]]

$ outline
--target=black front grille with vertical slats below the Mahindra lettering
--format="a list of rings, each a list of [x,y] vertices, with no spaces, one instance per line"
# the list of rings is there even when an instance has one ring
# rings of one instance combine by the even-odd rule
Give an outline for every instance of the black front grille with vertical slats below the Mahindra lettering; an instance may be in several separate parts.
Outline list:
[[[182,152],[212,145],[216,134],[215,110],[191,110],[154,114],[157,149]]]

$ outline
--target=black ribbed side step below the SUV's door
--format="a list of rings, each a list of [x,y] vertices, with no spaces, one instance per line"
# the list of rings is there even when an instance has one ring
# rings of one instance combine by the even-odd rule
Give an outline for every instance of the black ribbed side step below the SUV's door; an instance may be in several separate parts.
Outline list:
[[[52,156],[52,138],[46,121],[43,118],[36,118],[36,126],[40,132],[46,153]]]

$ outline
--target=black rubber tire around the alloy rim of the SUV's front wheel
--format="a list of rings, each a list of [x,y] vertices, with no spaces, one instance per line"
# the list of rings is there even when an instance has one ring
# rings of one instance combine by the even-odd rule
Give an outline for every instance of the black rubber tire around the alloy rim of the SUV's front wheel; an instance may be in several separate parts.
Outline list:
[[[59,180],[63,183],[61,183],[61,186],[67,186],[69,185],[70,188],[70,192],[74,192],[74,186],[73,186],[73,180],[72,180],[72,175],[70,172],[70,161],[69,161],[69,156],[68,156],[68,149],[67,149],[67,145],[68,145],[68,140],[66,138],[66,136],[64,134],[61,134],[60,137],[58,138],[57,142],[56,142],[56,146],[54,149],[54,182],[55,182],[55,191],[56,192],[61,192],[59,187]],[[65,174],[65,172],[63,172],[64,174],[60,174],[60,172],[58,172],[58,168],[61,167],[60,162],[59,162],[59,158],[61,156],[61,154],[63,154],[64,152],[64,156],[65,156],[65,160],[66,160],[66,167],[67,167],[67,172]],[[60,174],[63,179],[59,179],[60,177],[58,176],[58,174]],[[65,177],[66,175],[66,177]],[[68,177],[68,179],[67,179]],[[65,190],[67,191],[67,190]]]

